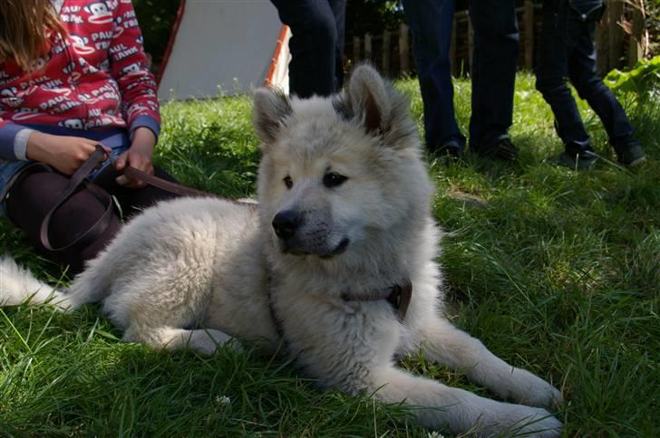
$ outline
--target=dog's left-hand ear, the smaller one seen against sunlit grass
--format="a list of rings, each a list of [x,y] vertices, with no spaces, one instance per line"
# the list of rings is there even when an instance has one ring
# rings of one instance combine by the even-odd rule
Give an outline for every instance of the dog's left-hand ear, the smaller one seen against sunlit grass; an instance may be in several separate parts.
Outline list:
[[[255,91],[252,119],[262,143],[273,142],[282,122],[292,112],[291,100],[282,90],[260,88]]]

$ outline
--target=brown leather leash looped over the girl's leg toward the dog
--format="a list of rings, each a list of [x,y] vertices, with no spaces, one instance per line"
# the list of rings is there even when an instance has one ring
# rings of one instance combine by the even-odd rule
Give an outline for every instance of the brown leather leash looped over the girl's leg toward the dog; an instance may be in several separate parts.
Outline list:
[[[62,195],[60,195],[55,205],[53,205],[48,214],[45,215],[44,221],[42,221],[39,230],[39,237],[45,249],[49,251],[65,251],[72,248],[74,245],[92,242],[108,227],[108,224],[110,224],[112,218],[112,214],[114,214],[112,211],[114,205],[112,202],[112,196],[101,187],[96,186],[90,179],[87,178],[87,176],[92,173],[92,170],[98,167],[105,159],[111,158],[108,156],[108,153],[104,148],[102,148],[101,145],[96,145],[92,155],[88,157],[82,166],[78,167],[78,169],[73,173],[69,179],[69,183],[64,187]],[[114,166],[114,163],[112,163],[111,166]],[[150,175],[134,167],[125,167],[123,174],[131,179],[139,179],[146,184],[149,184],[150,186],[156,186],[175,195],[220,197],[208,192],[202,192],[201,190],[166,181],[162,178],[159,178],[158,176]],[[82,233],[78,238],[73,240],[73,242],[67,243],[60,247],[53,247],[49,237],[49,228],[53,214],[55,214],[57,209],[60,208],[64,202],[66,202],[66,200],[71,197],[71,195],[73,195],[79,186],[84,186],[102,203],[102,205],[107,205],[105,211],[95,224],[93,224],[87,231]]]

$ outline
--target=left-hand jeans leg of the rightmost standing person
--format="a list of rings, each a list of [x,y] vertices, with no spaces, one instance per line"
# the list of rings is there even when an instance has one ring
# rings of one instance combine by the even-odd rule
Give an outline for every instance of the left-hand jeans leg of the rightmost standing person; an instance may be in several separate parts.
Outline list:
[[[566,153],[575,157],[593,151],[577,104],[566,83],[568,59],[574,52],[575,25],[568,21],[566,0],[547,1],[543,6],[543,23],[539,42],[539,63],[535,69],[536,88],[548,102],[555,116],[559,138]]]

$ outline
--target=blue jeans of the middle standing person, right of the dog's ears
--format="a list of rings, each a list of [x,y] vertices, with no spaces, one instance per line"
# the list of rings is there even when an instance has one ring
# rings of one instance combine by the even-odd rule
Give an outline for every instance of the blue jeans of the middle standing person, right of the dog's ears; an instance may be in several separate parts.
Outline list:
[[[472,0],[472,109],[470,147],[479,152],[507,138],[518,65],[515,0]],[[403,0],[424,102],[426,143],[465,144],[456,124],[449,47],[455,0]]]

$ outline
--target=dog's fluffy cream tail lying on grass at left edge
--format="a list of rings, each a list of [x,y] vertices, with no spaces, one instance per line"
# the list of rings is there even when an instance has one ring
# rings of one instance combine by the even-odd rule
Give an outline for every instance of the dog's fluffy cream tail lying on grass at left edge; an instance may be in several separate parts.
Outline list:
[[[34,274],[16,264],[8,255],[0,258],[0,307],[15,306],[24,302],[30,305],[53,304],[60,310],[73,310],[92,301],[91,296],[82,293],[67,293],[64,289],[55,289]]]

